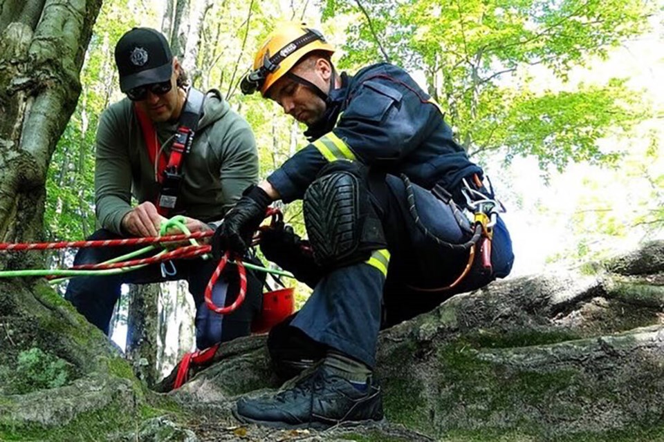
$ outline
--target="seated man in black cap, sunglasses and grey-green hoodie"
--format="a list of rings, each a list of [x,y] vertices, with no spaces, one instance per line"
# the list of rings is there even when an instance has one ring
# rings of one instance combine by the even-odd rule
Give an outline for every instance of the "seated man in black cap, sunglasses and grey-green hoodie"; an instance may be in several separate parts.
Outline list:
[[[91,240],[157,236],[163,221],[185,215],[191,232],[212,229],[243,191],[258,180],[258,154],[247,122],[219,91],[203,94],[186,75],[160,32],[133,28],[115,50],[120,90],[127,95],[102,113],[97,133],[95,203],[98,231]],[[131,205],[131,197],[138,205]],[[210,225],[209,225],[210,224]],[[170,232],[178,233],[178,232]],[[104,262],[127,249],[81,249],[75,265]],[[221,318],[203,300],[212,260],[174,260],[113,276],[73,278],[65,298],[109,332],[122,283],[186,279],[196,304],[196,346],[209,347],[250,332],[261,308],[262,282],[248,272],[246,300]],[[219,278],[216,305],[230,305],[239,278]],[[227,296],[228,295],[228,296]]]

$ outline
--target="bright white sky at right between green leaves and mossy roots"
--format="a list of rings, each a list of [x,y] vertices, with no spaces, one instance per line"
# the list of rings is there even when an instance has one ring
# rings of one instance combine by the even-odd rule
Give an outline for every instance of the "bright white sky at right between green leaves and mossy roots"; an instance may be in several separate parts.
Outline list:
[[[645,90],[653,112],[652,118],[639,124],[631,137],[600,141],[604,149],[627,151],[617,169],[571,164],[564,173],[553,173],[546,185],[534,160],[515,160],[506,171],[512,192],[505,217],[517,256],[512,276],[542,271],[553,258],[576,257],[585,247],[618,253],[634,248],[639,241],[663,237],[661,228],[644,230],[635,217],[638,205],[644,206],[641,210],[656,210],[662,203],[661,198],[647,198],[653,189],[645,179],[646,175],[664,174],[664,27],[660,19],[652,19],[651,23],[652,32],[625,42],[607,61],[598,60],[588,68],[573,70],[569,84],[560,84],[546,73],[533,73],[542,88],[566,88],[578,82],[627,77],[630,88]],[[649,139],[652,135],[654,141]],[[647,158],[652,142],[656,143],[656,153]],[[493,170],[491,173],[496,175]],[[661,195],[661,187],[658,191]],[[520,204],[515,204],[517,201]],[[620,234],[593,233],[602,229]],[[563,262],[570,264],[571,260]]]

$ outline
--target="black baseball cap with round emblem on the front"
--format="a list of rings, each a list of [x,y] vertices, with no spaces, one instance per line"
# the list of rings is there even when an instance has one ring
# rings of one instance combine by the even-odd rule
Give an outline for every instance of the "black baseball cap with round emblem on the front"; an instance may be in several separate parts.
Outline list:
[[[133,28],[116,44],[120,90],[162,83],[173,75],[173,55],[166,38],[151,28]]]

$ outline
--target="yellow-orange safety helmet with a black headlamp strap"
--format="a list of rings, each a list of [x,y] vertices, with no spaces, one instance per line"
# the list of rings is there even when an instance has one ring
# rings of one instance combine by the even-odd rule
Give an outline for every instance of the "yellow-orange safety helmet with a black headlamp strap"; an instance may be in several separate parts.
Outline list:
[[[275,81],[314,50],[333,54],[334,46],[325,41],[320,31],[308,28],[306,23],[282,23],[268,35],[256,53],[252,71],[241,81],[242,93],[248,95],[260,90],[265,97]]]

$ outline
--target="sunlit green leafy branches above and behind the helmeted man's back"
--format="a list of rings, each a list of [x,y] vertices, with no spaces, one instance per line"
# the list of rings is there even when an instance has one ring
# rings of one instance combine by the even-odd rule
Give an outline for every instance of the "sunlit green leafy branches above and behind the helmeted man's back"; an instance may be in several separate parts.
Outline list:
[[[425,75],[471,154],[501,150],[509,162],[534,155],[542,170],[569,162],[616,162],[597,141],[643,119],[639,93],[625,81],[540,90],[540,77],[566,81],[575,66],[646,32],[647,0],[329,0],[324,17],[352,17],[340,66],[391,61]],[[368,18],[367,18],[368,16]],[[370,20],[370,21],[369,21]],[[376,37],[374,37],[374,35]],[[378,39],[378,41],[376,41]]]

